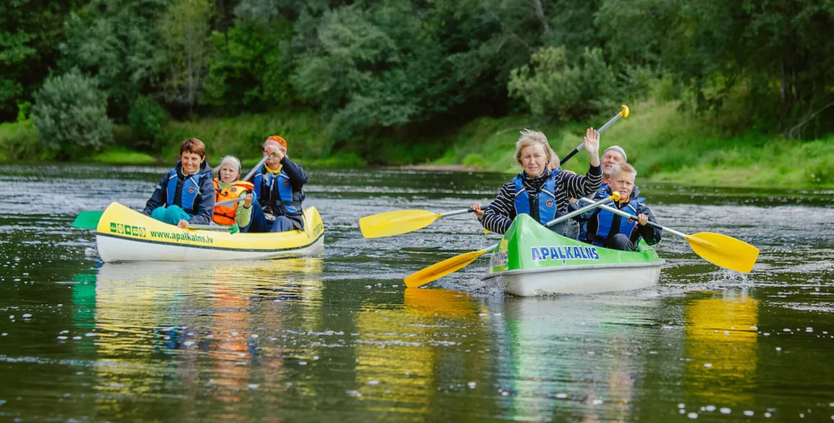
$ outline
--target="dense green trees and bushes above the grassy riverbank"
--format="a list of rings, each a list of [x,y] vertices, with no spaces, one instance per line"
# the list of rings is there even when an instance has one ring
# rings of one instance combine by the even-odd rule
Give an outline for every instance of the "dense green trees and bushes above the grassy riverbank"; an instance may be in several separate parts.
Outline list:
[[[72,158],[111,122],[153,151],[172,117],[304,110],[339,142],[654,95],[726,131],[820,137],[832,24],[826,0],[16,0],[0,121],[31,113]]]

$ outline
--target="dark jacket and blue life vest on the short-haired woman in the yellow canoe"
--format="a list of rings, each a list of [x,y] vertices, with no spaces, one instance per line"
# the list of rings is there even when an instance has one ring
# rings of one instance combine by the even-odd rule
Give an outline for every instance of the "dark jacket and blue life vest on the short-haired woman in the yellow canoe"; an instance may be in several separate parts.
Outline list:
[[[173,175],[176,175],[176,181],[172,179]],[[188,185],[193,185],[193,181],[195,181],[193,177],[198,177],[196,181],[198,181],[199,189],[193,195],[193,203],[183,205],[183,190],[188,189]],[[191,218],[188,219],[188,223],[193,225],[208,225],[211,222],[212,215],[214,214],[214,182],[212,182],[212,168],[208,166],[205,161],[203,161],[203,164],[200,165],[199,172],[197,172],[196,175],[193,175],[193,177],[191,180],[184,177],[183,163],[177,162],[177,165],[170,171],[165,172],[162,180],[159,181],[159,184],[153,191],[153,195],[151,195],[148,199],[148,203],[145,204],[145,208],[142,211],[143,214],[150,216],[153,209],[162,206],[168,207],[173,204],[178,207],[182,207],[185,212],[192,215]],[[174,185],[174,183],[176,183],[176,185]],[[176,187],[176,192],[172,192],[173,196],[168,195],[168,187]]]

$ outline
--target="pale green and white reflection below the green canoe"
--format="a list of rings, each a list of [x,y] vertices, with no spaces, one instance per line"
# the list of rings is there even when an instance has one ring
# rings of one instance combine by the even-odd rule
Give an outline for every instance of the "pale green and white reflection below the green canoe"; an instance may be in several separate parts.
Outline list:
[[[638,343],[656,299],[505,298],[500,333],[502,415],[521,421],[633,421],[644,373]],[[645,351],[643,351],[645,354]]]

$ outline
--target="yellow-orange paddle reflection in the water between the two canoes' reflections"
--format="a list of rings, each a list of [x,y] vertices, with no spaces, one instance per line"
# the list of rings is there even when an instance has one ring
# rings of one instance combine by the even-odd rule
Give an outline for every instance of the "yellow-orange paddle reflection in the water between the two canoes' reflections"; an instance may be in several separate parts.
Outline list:
[[[445,416],[477,413],[483,403],[468,407],[465,397],[455,410],[433,403],[444,392],[470,389],[468,381],[488,365],[486,316],[482,303],[444,289],[407,288],[390,302],[364,301],[356,316],[354,396],[412,421],[429,421],[437,408]]]

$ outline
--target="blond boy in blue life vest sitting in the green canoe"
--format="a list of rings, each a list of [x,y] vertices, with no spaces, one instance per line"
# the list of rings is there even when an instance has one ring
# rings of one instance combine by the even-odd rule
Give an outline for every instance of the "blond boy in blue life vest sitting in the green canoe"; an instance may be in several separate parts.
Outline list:
[[[634,186],[636,176],[637,171],[630,164],[617,163],[611,169],[605,193],[598,192],[594,200],[608,197],[612,192],[620,192],[620,202],[614,202],[613,207],[637,216],[637,220],[615,215],[605,209],[594,209],[584,216],[587,220],[586,231],[581,241],[622,251],[636,251],[641,238],[649,245],[661,241],[662,231],[646,225],[647,222],[656,220],[649,207],[644,204],[646,199],[640,197],[640,190]]]

